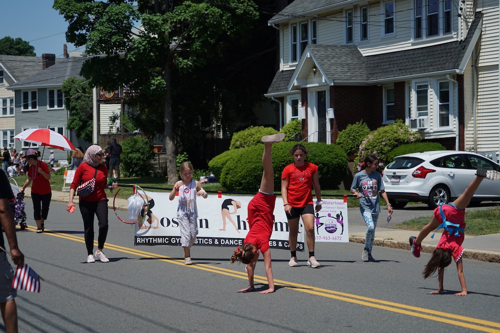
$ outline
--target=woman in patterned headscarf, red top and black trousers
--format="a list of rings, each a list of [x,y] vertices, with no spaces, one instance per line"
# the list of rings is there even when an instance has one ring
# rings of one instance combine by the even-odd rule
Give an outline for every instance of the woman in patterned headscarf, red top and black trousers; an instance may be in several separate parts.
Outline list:
[[[74,207],[73,197],[76,188],[80,183],[85,183],[92,178],[95,178],[94,190],[84,198],[79,198],[79,208],[81,217],[83,219],[83,229],[85,235],[85,246],[87,248],[87,263],[95,262],[94,256],[103,263],[108,263],[109,259],[106,258],[102,249],[106,242],[107,236],[107,196],[104,190],[108,188],[107,184],[107,168],[101,164],[104,158],[104,151],[97,145],[88,147],[83,156],[83,163],[78,166],[74,173],[73,182],[69,188],[69,201],[66,209],[68,211]],[[116,188],[117,183],[113,183],[112,188]],[[93,254],[93,220],[94,215],[97,216],[99,235],[97,237],[97,251]]]

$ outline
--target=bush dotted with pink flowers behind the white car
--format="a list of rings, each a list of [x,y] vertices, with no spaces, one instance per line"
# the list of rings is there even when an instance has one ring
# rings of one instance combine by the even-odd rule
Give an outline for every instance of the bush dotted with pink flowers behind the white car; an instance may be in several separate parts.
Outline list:
[[[378,127],[369,133],[359,145],[357,156],[354,159],[354,166],[357,171],[361,170],[361,163],[369,154],[378,156],[378,165],[381,169],[391,161],[389,152],[401,144],[419,142],[419,133],[413,132],[405,125],[401,119],[394,123]]]

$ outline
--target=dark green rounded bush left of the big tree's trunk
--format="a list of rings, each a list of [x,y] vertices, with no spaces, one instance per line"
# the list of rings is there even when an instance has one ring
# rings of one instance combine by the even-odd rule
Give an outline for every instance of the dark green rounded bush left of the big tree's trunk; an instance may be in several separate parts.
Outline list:
[[[146,139],[134,136],[121,143],[121,169],[128,177],[149,176],[153,171],[151,159],[154,157],[153,145]]]

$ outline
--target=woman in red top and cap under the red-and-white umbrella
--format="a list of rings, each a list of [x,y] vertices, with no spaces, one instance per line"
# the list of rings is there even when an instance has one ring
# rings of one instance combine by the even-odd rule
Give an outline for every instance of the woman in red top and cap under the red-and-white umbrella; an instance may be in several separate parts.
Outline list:
[[[38,152],[34,149],[26,151],[26,162],[29,165],[27,176],[28,178],[22,185],[20,192],[24,193],[24,189],[31,185],[31,200],[33,201],[34,220],[36,222],[36,233],[40,234],[45,230],[45,220],[48,216],[48,208],[50,207],[50,199],[52,198],[52,190],[50,189],[50,172],[48,167],[42,161],[38,161]]]

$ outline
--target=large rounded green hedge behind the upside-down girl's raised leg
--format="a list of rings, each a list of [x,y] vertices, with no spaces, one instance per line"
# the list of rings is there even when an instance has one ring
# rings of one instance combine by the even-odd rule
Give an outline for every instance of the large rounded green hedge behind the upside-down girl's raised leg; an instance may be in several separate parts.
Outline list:
[[[280,142],[272,146],[272,166],[274,169],[274,191],[281,191],[281,173],[283,168],[293,163],[290,150],[295,142]],[[343,180],[347,170],[347,155],[338,146],[325,143],[304,143],[309,150],[307,161],[319,168],[319,184],[321,189],[336,189]],[[227,191],[255,193],[262,179],[261,156],[262,144],[233,150],[226,156],[222,172],[218,177],[221,185]],[[220,155],[219,155],[220,156]],[[213,160],[212,160],[213,161]],[[213,171],[210,163],[210,170]],[[215,174],[215,172],[214,172]],[[215,176],[217,176],[215,174]]]

